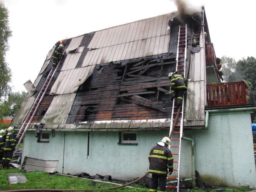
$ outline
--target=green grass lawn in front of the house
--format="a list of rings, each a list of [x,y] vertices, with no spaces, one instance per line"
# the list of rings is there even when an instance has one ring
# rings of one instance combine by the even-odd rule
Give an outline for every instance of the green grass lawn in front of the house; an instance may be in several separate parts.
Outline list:
[[[52,175],[45,172],[27,172],[22,173],[27,182],[24,184],[10,185],[8,182],[7,173],[21,173],[21,170],[16,168],[2,169],[0,170],[0,191],[2,190],[15,190],[15,189],[88,189],[84,191],[91,191],[90,189],[116,187],[117,185],[105,184],[102,182],[94,182],[91,180],[84,180],[78,178],[71,178],[66,176]],[[149,189],[143,188],[140,185],[135,184],[135,187],[141,189],[131,189],[123,187],[111,192],[148,192]],[[221,187],[216,187],[220,189]],[[239,187],[233,190],[233,192],[251,191],[248,187]],[[97,190],[98,191],[98,190]],[[106,191],[106,190],[101,190]],[[110,190],[109,190],[110,191]],[[184,190],[185,191],[185,190]],[[205,192],[204,190],[186,190],[187,192]],[[208,192],[216,192],[216,190],[207,190]],[[222,192],[231,192],[232,190],[222,190]]]

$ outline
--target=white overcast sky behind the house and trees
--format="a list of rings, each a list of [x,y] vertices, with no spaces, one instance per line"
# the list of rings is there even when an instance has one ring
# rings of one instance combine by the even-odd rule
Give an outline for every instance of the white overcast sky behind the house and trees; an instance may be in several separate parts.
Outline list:
[[[7,63],[14,91],[35,81],[58,41],[177,10],[171,0],[0,0],[9,10],[12,37]],[[256,57],[255,0],[190,0],[204,5],[217,57]]]

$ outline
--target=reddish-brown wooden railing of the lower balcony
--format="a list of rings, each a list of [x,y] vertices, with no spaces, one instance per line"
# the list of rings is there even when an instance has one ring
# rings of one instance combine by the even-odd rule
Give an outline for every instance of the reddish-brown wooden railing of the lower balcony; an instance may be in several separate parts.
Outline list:
[[[246,84],[243,81],[206,84],[208,106],[244,105],[246,103]]]

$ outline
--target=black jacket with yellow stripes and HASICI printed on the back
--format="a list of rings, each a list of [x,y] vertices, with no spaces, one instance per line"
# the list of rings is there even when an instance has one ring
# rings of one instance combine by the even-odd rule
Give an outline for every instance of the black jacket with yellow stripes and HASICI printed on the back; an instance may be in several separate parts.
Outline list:
[[[171,151],[161,145],[156,145],[153,147],[149,153],[148,160],[150,162],[149,165],[149,173],[157,174],[157,175],[166,175],[167,167],[170,170],[173,170],[173,157]]]

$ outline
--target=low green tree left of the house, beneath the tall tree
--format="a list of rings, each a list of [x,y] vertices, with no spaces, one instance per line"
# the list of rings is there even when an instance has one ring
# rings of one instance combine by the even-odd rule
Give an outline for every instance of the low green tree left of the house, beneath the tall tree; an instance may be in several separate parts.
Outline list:
[[[20,104],[26,96],[26,92],[22,91],[9,93],[7,100],[3,101],[0,105],[0,117],[2,116],[14,116],[20,107]]]

